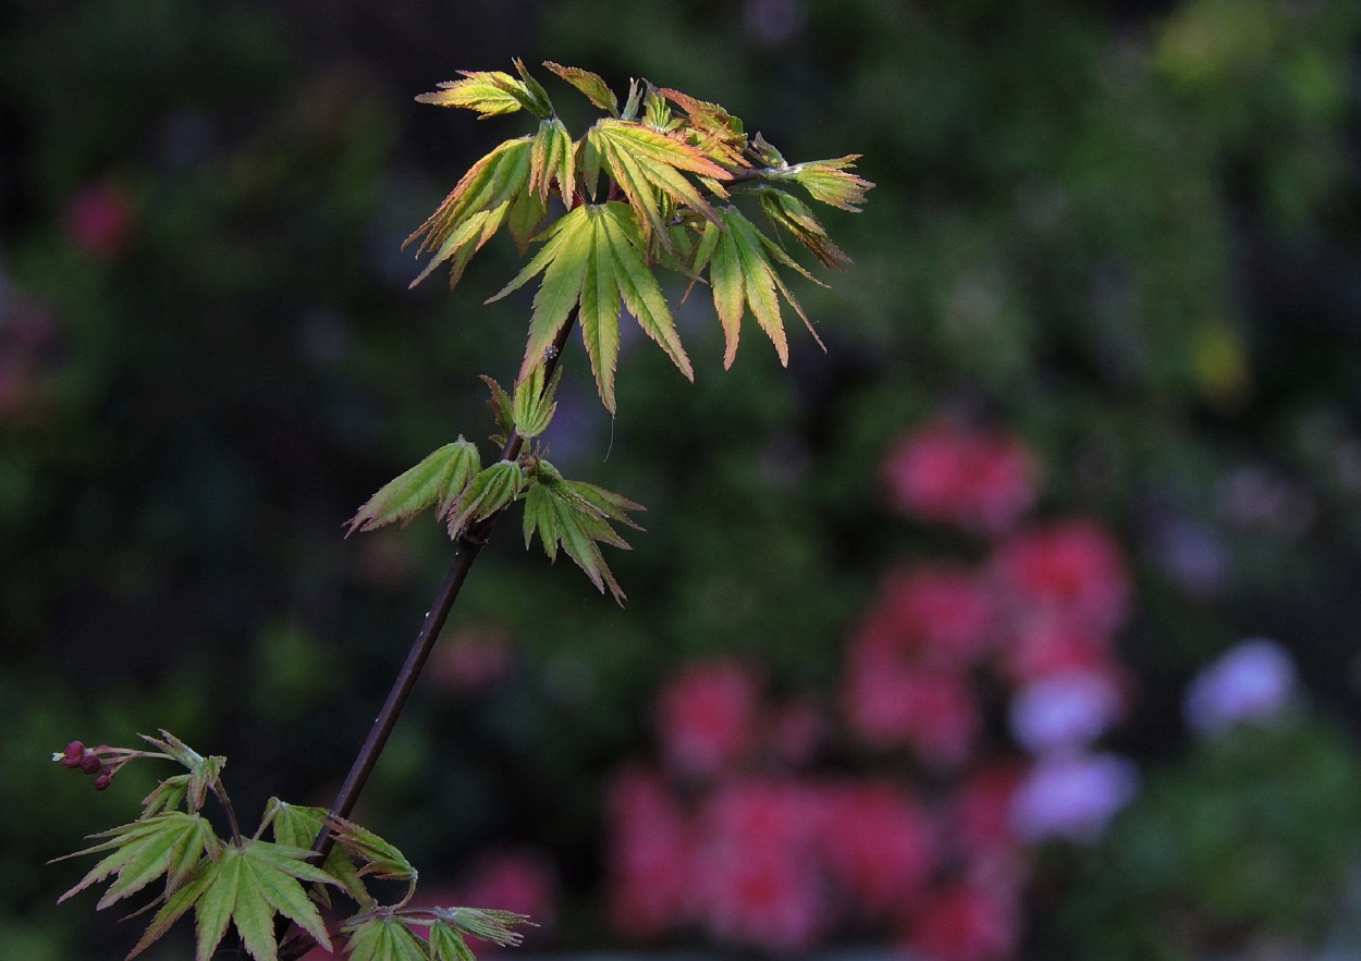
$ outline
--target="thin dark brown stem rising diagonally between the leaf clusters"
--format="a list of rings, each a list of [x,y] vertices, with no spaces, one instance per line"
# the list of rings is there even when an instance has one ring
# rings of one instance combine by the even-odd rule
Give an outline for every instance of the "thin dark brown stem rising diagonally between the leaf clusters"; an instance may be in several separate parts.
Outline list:
[[[566,347],[568,336],[572,333],[572,328],[576,325],[576,321],[577,309],[573,308],[544,357],[544,385],[553,380],[553,372],[562,359],[562,350]],[[521,448],[524,448],[524,437],[521,437],[512,427],[509,437],[506,437],[505,446],[501,449],[501,459],[514,460],[520,456]],[[463,588],[463,583],[468,579],[472,562],[476,561],[478,554],[482,553],[482,547],[491,536],[491,530],[495,527],[497,519],[501,513],[504,512],[494,513],[486,520],[471,524],[468,530],[459,536],[457,554],[455,554],[449,573],[445,576],[444,584],[440,587],[440,593],[436,595],[430,610],[426,611],[425,622],[421,625],[421,632],[416,634],[416,640],[411,645],[411,651],[407,652],[407,659],[401,664],[401,670],[397,671],[397,677],[392,682],[392,690],[388,691],[388,700],[384,702],[382,711],[378,712],[377,719],[373,721],[373,727],[369,730],[369,736],[359,749],[358,757],[355,757],[354,764],[350,766],[350,773],[346,776],[344,783],[340,785],[340,791],[336,794],[335,802],[331,804],[328,819],[348,818],[355,803],[359,800],[359,792],[363,789],[365,781],[369,780],[369,775],[373,773],[373,768],[378,764],[378,755],[388,743],[388,736],[392,734],[392,728],[397,724],[397,717],[401,715],[401,709],[407,704],[407,697],[410,697],[411,690],[415,687],[416,678],[421,677],[421,670],[430,657],[430,651],[434,649],[434,642],[440,637],[440,630],[444,628],[444,622],[449,618],[453,602],[457,600],[459,591]],[[312,844],[312,860],[317,864],[325,862],[327,855],[331,853],[331,848],[333,847],[335,836],[328,828],[323,828],[317,834],[316,841]],[[302,957],[314,943],[316,942],[310,935],[308,935],[306,931],[294,928],[290,932],[290,936],[280,946],[279,958],[280,961],[295,961],[295,958]]]

